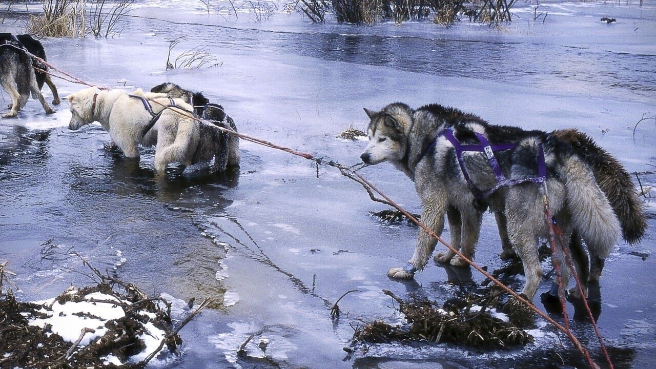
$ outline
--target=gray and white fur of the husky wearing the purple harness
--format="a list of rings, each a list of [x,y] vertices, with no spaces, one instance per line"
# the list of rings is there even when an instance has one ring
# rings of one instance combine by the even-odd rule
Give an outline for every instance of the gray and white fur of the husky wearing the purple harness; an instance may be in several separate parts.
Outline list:
[[[493,144],[514,142],[514,148],[495,153],[504,175],[513,179],[537,175],[537,148],[541,144],[548,170],[546,196],[563,239],[569,242],[571,234],[576,231],[588,244],[590,253],[602,259],[615,246],[620,226],[612,207],[597,185],[590,167],[571,146],[558,138],[541,131],[489,125],[472,114],[436,104],[412,110],[405,104],[396,103],[380,112],[365,112],[371,123],[369,145],[361,156],[363,161],[370,164],[389,161],[413,179],[424,208],[424,224],[439,235],[443,230],[444,216],[447,215],[452,245],[469,259],[474,257],[482,211],[474,207],[474,195],[464,180],[453,145],[445,137],[440,137],[435,148],[422,156],[430,142],[447,127],[453,129],[463,144],[479,143],[471,138],[474,132],[483,133]],[[483,192],[493,188],[495,176],[482,153],[465,153],[464,163],[476,187]],[[535,296],[542,276],[537,253],[538,238],[546,236],[548,230],[541,187],[535,183],[523,183],[500,188],[485,198],[497,214],[499,229],[507,230],[509,244],[522,259],[526,275],[522,293],[529,299]],[[503,236],[504,232],[501,233]],[[436,240],[420,230],[417,247],[409,263],[418,270],[423,269],[435,246]],[[436,261],[466,265],[451,251],[438,253]],[[569,268],[564,263],[564,257],[556,253],[553,261],[562,267],[566,283]],[[577,265],[579,268],[583,269]],[[413,273],[392,268],[388,276],[412,278]]]

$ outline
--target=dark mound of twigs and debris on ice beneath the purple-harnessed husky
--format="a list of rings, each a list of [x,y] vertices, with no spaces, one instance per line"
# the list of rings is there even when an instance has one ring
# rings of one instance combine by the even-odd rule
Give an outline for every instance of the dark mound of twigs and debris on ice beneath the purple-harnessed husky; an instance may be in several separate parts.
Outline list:
[[[428,341],[457,343],[476,349],[504,349],[533,342],[533,337],[523,330],[525,327],[501,313],[504,304],[500,302],[499,292],[470,293],[449,299],[442,307],[428,299],[404,301],[390,291],[383,292],[399,303],[398,309],[408,324],[392,326],[377,320],[358,328],[354,343]]]

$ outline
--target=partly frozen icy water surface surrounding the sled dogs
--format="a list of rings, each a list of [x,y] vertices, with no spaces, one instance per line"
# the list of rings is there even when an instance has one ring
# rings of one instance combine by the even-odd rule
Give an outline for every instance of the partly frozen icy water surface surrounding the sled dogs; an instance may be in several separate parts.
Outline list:
[[[358,162],[364,142],[335,135],[350,125],[365,127],[362,107],[401,100],[450,104],[493,123],[577,127],[630,171],[656,165],[653,122],[642,123],[632,137],[642,114],[654,114],[656,53],[642,33],[655,29],[651,8],[550,5],[564,14],[551,14],[544,28],[522,21],[499,31],[466,24],[449,30],[413,23],[315,26],[286,14],[264,24],[234,24],[155,5],[133,15],[161,20],[131,18],[115,39],[44,40],[49,60],[102,85],[173,81],[203,91],[226,107],[240,131],[342,163]],[[596,16],[613,11],[623,21],[596,28]],[[634,24],[639,30],[630,33]],[[563,37],[567,32],[576,37]],[[182,34],[188,35],[184,49],[207,47],[222,66],[165,72],[166,39]],[[79,88],[64,81],[58,87],[62,96]],[[143,150],[139,163],[107,152],[109,137],[100,127],[65,128],[67,108],[45,117],[31,100],[20,118],[0,121],[0,259],[18,274],[22,299],[45,299],[87,282],[74,272],[83,271],[77,261],[41,259],[41,245],[52,240],[149,294],[216,299],[215,309],[180,332],[184,355],[159,364],[164,367],[584,366],[548,328],[535,331],[536,343],[522,350],[377,345],[348,355],[342,348],[352,327],[378,318],[400,321],[383,288],[441,303],[482,278],[430,264],[414,281],[389,280],[389,267],[411,256],[416,228],[371,217],[369,211],[384,207],[331,169],[317,171],[302,159],[242,142],[239,173],[216,178],[203,169],[171,167],[157,180],[152,149]],[[363,174],[420,212],[402,173],[382,164]],[[656,183],[649,173],[641,180]],[[652,228],[655,209],[649,203]],[[495,228],[485,217],[476,254],[490,269],[502,265]],[[652,230],[639,245],[620,244],[596,292],[615,368],[650,368],[656,360],[655,251]],[[522,284],[518,277],[513,287]],[[342,316],[331,321],[329,307],[348,290],[359,292],[340,301]],[[599,357],[590,326],[574,327]],[[247,357],[237,355],[252,334]]]

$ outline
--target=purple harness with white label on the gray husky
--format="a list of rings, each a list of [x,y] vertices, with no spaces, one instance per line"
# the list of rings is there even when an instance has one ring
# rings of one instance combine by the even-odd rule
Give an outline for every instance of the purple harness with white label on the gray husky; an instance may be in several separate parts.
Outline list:
[[[508,179],[506,176],[503,174],[501,171],[501,167],[499,167],[499,161],[497,160],[497,156],[495,156],[494,152],[495,151],[501,151],[501,150],[509,150],[511,148],[515,147],[515,144],[512,143],[507,143],[507,144],[490,144],[489,141],[487,141],[487,138],[485,138],[484,135],[481,133],[476,133],[476,137],[478,138],[478,141],[481,142],[481,144],[468,144],[468,145],[463,145],[461,144],[453,135],[453,129],[447,128],[438,137],[435,138],[435,140],[424,150],[422,155],[419,158],[419,161],[424,158],[424,156],[432,149],[435,147],[437,144],[438,139],[440,137],[444,136],[451,144],[453,144],[453,148],[455,148],[455,153],[458,158],[458,163],[460,164],[460,169],[462,171],[462,177],[464,177],[464,180],[467,183],[467,186],[470,188],[472,191],[472,194],[474,194],[474,197],[477,200],[487,198],[487,196],[490,196],[493,194],[496,190],[503,186],[514,186],[514,185],[519,185],[520,183],[526,183],[526,182],[533,182],[536,185],[541,185],[546,181],[546,164],[544,163],[544,149],[542,144],[538,144],[538,152],[537,152],[537,177],[529,177],[529,178],[521,178],[521,179]],[[490,167],[492,167],[492,170],[495,173],[495,178],[497,179],[497,185],[495,185],[493,188],[490,190],[487,190],[483,192],[480,190],[474,183],[472,182],[472,179],[469,177],[469,173],[467,171],[467,168],[464,165],[464,159],[462,158],[462,153],[463,152],[482,152],[483,155],[485,155],[485,158],[487,158],[487,162],[489,163]],[[418,161],[418,162],[419,162]]]

